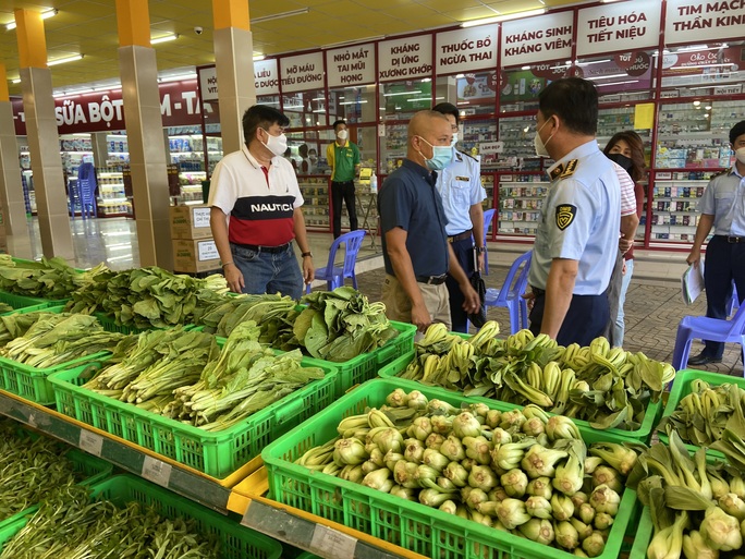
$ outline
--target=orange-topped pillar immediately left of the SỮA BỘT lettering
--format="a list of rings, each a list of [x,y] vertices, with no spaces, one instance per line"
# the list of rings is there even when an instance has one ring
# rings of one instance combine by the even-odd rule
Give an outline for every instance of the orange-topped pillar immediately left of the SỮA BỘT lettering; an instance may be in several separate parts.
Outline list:
[[[47,257],[73,259],[75,254],[60,158],[51,72],[47,66],[44,21],[39,12],[15,10],[15,24],[41,250]]]

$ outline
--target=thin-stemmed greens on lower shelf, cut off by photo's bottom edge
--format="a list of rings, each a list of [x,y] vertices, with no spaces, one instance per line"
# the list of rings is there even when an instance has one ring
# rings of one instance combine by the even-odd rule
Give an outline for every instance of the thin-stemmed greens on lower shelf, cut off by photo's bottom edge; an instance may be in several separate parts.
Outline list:
[[[0,559],[218,559],[218,543],[194,521],[160,517],[131,502],[90,501],[89,489],[70,486],[50,496],[2,548]]]

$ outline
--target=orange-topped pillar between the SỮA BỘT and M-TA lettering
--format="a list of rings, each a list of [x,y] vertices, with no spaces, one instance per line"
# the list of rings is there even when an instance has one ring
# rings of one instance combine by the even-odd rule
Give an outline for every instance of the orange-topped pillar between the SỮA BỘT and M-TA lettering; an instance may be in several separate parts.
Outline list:
[[[172,270],[163,121],[147,0],[117,0],[117,24],[139,265]]]

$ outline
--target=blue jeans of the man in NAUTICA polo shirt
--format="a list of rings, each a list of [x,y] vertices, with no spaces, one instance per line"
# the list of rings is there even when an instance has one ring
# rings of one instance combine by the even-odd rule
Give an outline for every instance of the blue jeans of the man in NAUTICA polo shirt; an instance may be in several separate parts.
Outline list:
[[[233,262],[243,274],[243,292],[254,295],[277,293],[297,301],[303,295],[301,274],[292,243],[281,253],[256,252],[230,243]]]

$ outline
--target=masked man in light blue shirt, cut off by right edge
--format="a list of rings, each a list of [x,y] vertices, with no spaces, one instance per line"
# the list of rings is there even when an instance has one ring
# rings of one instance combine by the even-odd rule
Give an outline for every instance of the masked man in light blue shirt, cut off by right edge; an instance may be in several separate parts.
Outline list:
[[[701,245],[713,226],[715,234],[706,248],[704,284],[706,316],[726,318],[732,297],[732,283],[737,288],[740,304],[745,301],[745,120],[730,130],[730,144],[735,162],[711,179],[698,204],[701,217],[687,263],[698,266]],[[708,341],[704,351],[691,357],[688,365],[706,365],[722,361],[724,344]]]

